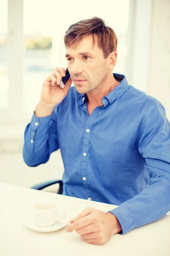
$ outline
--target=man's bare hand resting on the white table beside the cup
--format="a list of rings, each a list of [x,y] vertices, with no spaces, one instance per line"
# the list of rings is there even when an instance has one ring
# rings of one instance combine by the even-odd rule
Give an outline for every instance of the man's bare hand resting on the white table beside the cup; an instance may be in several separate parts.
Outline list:
[[[72,219],[67,232],[76,232],[90,244],[104,244],[122,228],[111,212],[101,212],[91,207]]]

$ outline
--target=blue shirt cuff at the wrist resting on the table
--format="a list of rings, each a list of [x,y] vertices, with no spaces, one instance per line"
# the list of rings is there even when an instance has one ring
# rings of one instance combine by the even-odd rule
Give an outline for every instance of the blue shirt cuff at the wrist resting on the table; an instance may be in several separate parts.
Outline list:
[[[122,231],[119,234],[125,234],[134,228],[133,217],[125,205],[120,205],[109,212],[116,216],[122,227]]]

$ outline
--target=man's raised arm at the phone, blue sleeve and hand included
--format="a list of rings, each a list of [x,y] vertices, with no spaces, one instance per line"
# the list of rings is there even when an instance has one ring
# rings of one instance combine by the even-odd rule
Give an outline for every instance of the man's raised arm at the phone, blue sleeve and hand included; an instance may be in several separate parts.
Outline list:
[[[40,102],[24,133],[23,159],[28,166],[46,163],[50,154],[59,148],[58,106],[67,96],[72,82],[71,78],[68,79],[65,87],[61,89],[59,84],[64,76],[65,70],[57,67],[42,85]]]

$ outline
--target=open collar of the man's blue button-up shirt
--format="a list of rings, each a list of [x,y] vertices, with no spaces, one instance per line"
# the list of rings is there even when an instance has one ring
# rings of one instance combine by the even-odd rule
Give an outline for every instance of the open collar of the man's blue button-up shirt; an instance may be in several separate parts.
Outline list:
[[[112,104],[113,102],[115,102],[116,99],[122,96],[125,90],[127,90],[127,88],[129,87],[127,79],[124,75],[113,73],[113,76],[120,83],[118,84],[118,86],[116,86],[116,88],[114,88],[110,93],[108,93],[108,95],[102,98],[104,106],[108,105],[108,103]],[[85,103],[86,97],[86,93],[81,94],[79,105],[83,105]]]

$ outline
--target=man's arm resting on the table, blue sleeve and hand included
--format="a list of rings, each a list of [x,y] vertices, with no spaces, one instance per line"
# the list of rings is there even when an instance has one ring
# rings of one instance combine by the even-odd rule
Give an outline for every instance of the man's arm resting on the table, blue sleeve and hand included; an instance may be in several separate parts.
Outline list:
[[[161,218],[170,210],[170,123],[164,107],[156,106],[142,123],[139,152],[145,158],[148,187],[105,213],[86,208],[67,227],[91,244],[103,244],[116,233],[127,233]]]

